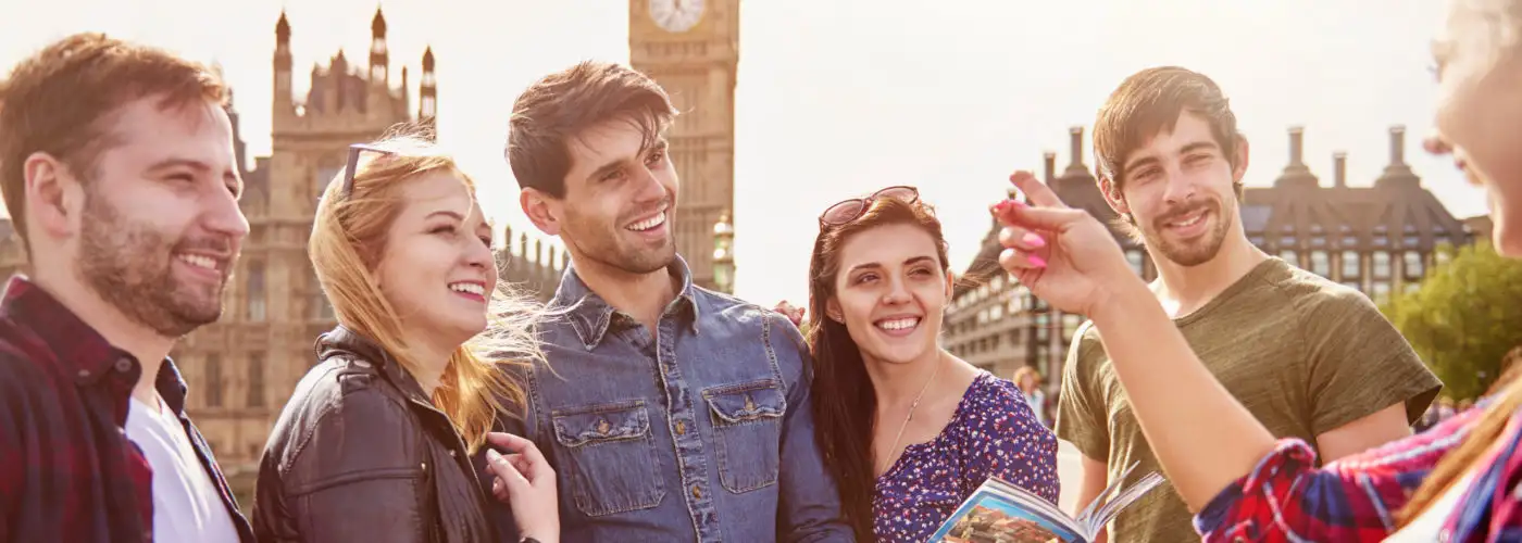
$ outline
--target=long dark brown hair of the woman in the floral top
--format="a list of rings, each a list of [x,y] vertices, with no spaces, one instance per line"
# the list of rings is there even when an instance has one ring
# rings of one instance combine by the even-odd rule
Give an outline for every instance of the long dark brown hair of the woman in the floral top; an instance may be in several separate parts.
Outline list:
[[[808,262],[808,315],[814,324],[808,330],[808,350],[814,357],[814,433],[825,453],[825,465],[840,487],[840,510],[855,529],[858,541],[872,541],[872,417],[877,412],[877,391],[868,379],[861,350],[846,325],[829,319],[825,307],[836,295],[840,272],[840,249],[851,236],[883,225],[909,224],[919,227],[936,242],[941,269],[950,265],[941,221],[924,202],[909,204],[881,198],[868,211],[845,225],[826,227],[814,239],[814,254]],[[927,315],[925,318],[939,318]]]

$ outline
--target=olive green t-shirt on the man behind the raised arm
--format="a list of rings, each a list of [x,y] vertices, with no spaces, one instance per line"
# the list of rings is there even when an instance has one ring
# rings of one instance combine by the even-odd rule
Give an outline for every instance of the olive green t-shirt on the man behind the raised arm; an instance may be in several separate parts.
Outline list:
[[[1175,322],[1216,380],[1269,432],[1312,447],[1317,435],[1396,403],[1405,402],[1415,421],[1443,385],[1364,294],[1274,257]],[[1125,485],[1163,473],[1099,330],[1085,322],[1076,336],[1062,368],[1058,437],[1103,459],[1108,481],[1132,462],[1138,465]],[[1199,540],[1169,484],[1120,513],[1111,528],[1111,543]]]

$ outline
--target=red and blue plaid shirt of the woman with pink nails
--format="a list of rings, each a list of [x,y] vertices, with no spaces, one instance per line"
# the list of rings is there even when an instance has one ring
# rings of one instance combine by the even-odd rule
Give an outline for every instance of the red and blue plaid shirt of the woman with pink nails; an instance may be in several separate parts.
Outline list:
[[[1195,517],[1195,529],[1205,541],[1382,541],[1396,529],[1394,514],[1482,411],[1321,468],[1304,441],[1282,440]],[[1513,414],[1496,453],[1478,462],[1473,485],[1447,514],[1444,541],[1522,541],[1519,441],[1522,412]]]

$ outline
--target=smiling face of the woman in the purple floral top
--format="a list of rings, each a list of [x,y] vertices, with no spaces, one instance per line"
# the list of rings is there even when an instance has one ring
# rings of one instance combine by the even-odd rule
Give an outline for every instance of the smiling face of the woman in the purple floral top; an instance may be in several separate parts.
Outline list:
[[[933,354],[951,295],[936,240],[916,225],[886,224],[852,234],[839,254],[828,312],[861,356],[907,364]]]

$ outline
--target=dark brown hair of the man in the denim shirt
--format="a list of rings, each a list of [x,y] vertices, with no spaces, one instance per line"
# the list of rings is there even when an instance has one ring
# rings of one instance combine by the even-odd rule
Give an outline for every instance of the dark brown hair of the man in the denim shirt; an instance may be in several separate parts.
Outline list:
[[[586,61],[539,79],[517,96],[507,132],[507,163],[522,189],[565,198],[572,137],[592,125],[626,119],[650,148],[676,117],[671,99],[629,67]]]

